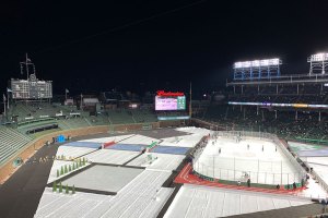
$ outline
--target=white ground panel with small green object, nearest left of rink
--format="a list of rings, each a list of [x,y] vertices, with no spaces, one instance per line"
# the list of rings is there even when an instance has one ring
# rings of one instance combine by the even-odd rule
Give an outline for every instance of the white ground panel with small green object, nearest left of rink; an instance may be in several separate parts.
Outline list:
[[[151,161],[149,159],[151,155]],[[168,155],[168,154],[143,154],[136,158],[128,166],[147,167],[147,169],[159,169],[159,170],[175,170],[184,160],[184,155]]]

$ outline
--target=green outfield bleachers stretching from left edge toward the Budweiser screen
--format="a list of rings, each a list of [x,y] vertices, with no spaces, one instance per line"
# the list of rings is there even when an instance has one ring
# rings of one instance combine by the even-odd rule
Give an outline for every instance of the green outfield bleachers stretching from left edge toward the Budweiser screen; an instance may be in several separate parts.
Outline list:
[[[70,116],[70,112],[77,111],[80,116]],[[59,112],[62,112],[66,117],[56,117],[56,113]],[[15,102],[11,106],[8,113],[9,117],[16,117],[17,122],[13,122],[11,128],[0,128],[0,164],[4,162],[27,142],[32,141],[33,137],[43,134],[43,132],[39,132],[36,135],[28,135],[27,132],[31,130],[52,124],[56,126],[58,124],[59,129],[56,130],[69,130],[92,125],[155,122],[157,120],[151,110],[107,110],[96,116],[90,116],[89,112],[77,110],[77,107],[73,106],[51,105],[48,102]],[[16,129],[12,129],[14,126]],[[45,131],[45,134],[49,131]]]

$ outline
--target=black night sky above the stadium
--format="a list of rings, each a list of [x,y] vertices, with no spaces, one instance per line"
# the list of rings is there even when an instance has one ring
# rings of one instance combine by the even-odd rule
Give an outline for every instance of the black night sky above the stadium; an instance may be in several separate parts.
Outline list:
[[[307,56],[328,51],[325,1],[106,2],[0,3],[0,90],[22,77],[25,52],[56,94],[80,94],[186,90],[190,81],[207,92],[235,61],[280,57],[283,74],[306,73]]]

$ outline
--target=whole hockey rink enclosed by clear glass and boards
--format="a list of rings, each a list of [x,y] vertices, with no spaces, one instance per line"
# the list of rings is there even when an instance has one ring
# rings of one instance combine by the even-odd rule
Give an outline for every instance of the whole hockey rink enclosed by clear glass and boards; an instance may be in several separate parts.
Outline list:
[[[210,180],[259,184],[302,183],[305,171],[276,135],[215,132],[192,159],[194,172]]]

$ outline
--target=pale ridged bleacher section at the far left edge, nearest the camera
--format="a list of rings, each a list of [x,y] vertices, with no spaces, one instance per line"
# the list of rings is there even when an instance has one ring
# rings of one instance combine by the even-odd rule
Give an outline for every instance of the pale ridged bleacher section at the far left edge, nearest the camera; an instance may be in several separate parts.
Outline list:
[[[0,165],[32,141],[28,136],[5,126],[0,126]]]

